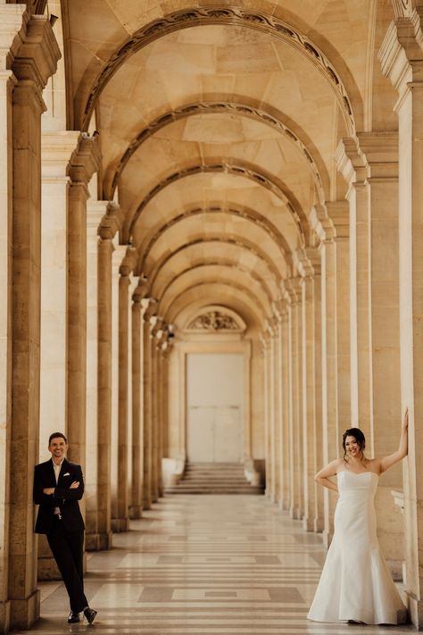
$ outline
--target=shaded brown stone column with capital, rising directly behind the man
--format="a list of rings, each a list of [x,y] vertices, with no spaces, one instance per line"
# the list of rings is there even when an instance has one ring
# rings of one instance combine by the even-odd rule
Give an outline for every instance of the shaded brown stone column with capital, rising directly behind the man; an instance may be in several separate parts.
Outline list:
[[[67,295],[67,430],[69,458],[86,464],[87,386],[87,199],[88,182],[100,165],[95,137],[79,136],[69,162]]]

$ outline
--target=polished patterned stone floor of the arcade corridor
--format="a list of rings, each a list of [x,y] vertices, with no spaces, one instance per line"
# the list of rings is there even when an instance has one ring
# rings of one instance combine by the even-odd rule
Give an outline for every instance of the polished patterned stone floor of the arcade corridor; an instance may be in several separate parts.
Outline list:
[[[90,554],[95,623],[68,625],[66,592],[41,585],[38,635],[302,635],[410,633],[408,627],[308,622],[324,560],[321,540],[263,497],[170,496]]]

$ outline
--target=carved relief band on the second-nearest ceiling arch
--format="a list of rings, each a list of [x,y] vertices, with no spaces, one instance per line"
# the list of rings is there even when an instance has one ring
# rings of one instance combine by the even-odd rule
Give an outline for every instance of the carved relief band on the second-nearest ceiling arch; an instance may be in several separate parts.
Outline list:
[[[348,104],[349,108],[349,104]],[[300,152],[305,156],[307,162],[311,165],[311,170],[313,172],[313,177],[316,180],[318,187],[321,187],[321,180],[318,168],[316,163],[314,163],[309,151],[304,146],[303,142],[294,134],[292,130],[289,130],[287,126],[279,121],[276,117],[273,117],[269,113],[261,110],[260,108],[254,108],[250,105],[245,104],[236,104],[233,102],[198,102],[197,104],[188,104],[186,106],[182,106],[180,108],[175,108],[175,110],[170,113],[166,113],[161,115],[155,121],[152,121],[150,125],[141,130],[141,132],[137,135],[135,139],[130,143],[124,155],[121,157],[120,162],[116,168],[113,180],[112,180],[112,188],[109,192],[108,198],[113,199],[115,189],[117,188],[120,174],[125,168],[125,165],[129,162],[130,157],[137,152],[139,146],[147,138],[153,136],[155,132],[161,130],[162,127],[171,123],[172,121],[178,121],[179,119],[183,119],[191,114],[195,113],[228,113],[228,114],[245,114],[248,117],[252,117],[253,119],[259,119],[264,123],[270,125],[272,128],[279,130],[282,134],[285,134],[286,137],[290,138],[291,141],[298,146]]]

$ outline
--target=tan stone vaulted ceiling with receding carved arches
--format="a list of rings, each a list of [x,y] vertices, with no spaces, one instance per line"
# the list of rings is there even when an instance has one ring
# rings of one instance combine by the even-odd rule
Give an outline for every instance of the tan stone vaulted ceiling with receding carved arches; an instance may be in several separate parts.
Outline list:
[[[390,1],[64,4],[70,125],[100,132],[100,196],[159,313],[203,302],[260,325],[313,206],[344,198],[339,140],[396,125]]]

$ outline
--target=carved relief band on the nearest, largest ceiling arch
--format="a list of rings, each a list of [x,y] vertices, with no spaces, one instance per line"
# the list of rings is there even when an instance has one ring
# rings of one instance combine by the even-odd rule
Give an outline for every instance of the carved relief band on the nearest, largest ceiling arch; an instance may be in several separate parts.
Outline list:
[[[409,4],[410,0],[393,0],[393,2],[394,4],[400,2]],[[303,35],[303,33],[295,30],[285,22],[278,20],[275,16],[265,13],[251,13],[239,7],[226,6],[202,7],[190,11],[184,10],[170,13],[165,18],[153,21],[143,29],[139,29],[134,33],[133,36],[112,55],[104,66],[103,71],[101,71],[97,79],[95,79],[91,93],[87,98],[87,104],[83,114],[82,130],[87,130],[95,102],[103,88],[129,55],[137,53],[137,51],[144,46],[150,44],[155,39],[162,38],[162,36],[168,33],[178,29],[187,29],[193,25],[203,24],[231,24],[259,29],[270,33],[275,38],[284,39],[292,46],[299,48],[330,80],[346,115],[346,121],[349,123],[349,132],[353,134],[355,124],[347,92],[326,55],[323,54],[309,38]]]

